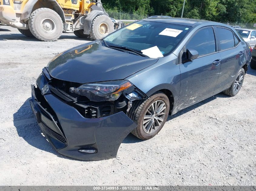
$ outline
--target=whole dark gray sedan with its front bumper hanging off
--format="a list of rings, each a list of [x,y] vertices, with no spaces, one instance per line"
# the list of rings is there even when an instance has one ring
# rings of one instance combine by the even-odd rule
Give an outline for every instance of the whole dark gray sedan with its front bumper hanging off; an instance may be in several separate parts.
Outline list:
[[[60,154],[114,158],[130,132],[152,138],[169,114],[220,92],[238,94],[250,56],[228,25],[144,19],[55,56],[30,103]]]

